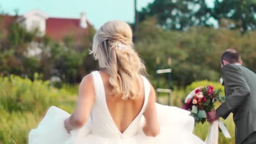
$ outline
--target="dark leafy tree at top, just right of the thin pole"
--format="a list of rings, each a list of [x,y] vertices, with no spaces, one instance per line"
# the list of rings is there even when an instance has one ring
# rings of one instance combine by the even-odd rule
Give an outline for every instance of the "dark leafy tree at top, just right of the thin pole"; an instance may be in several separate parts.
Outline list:
[[[152,16],[164,29],[182,31],[190,26],[211,26],[211,9],[205,0],[155,0],[139,12],[139,20]]]

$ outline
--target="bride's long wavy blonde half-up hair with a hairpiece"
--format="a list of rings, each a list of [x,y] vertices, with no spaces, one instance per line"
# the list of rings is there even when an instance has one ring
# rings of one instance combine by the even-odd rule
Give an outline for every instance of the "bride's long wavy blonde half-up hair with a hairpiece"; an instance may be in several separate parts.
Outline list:
[[[109,74],[112,94],[122,99],[136,97],[135,82],[139,75],[146,74],[145,66],[133,50],[132,30],[123,21],[104,23],[94,36],[91,52],[101,69]],[[119,85],[118,85],[119,84]],[[140,87],[141,87],[141,83]]]

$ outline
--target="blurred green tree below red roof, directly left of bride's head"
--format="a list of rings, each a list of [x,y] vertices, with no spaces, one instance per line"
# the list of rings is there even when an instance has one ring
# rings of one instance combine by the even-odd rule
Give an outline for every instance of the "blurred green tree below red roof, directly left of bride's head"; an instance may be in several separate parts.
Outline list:
[[[44,45],[40,71],[44,74],[44,79],[59,76],[64,82],[76,83],[80,82],[92,69],[96,69],[97,64],[94,58],[88,55],[94,34],[95,29],[89,27],[87,31],[80,33],[77,39],[74,35],[67,35],[62,43],[51,41],[47,37],[41,41]]]

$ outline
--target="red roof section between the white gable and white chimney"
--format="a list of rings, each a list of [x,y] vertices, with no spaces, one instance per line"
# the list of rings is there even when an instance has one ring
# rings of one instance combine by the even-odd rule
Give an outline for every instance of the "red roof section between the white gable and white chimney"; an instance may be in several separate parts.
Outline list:
[[[80,19],[49,18],[46,20],[45,34],[56,40],[61,40],[66,35],[73,35],[76,39],[86,29],[80,27]]]

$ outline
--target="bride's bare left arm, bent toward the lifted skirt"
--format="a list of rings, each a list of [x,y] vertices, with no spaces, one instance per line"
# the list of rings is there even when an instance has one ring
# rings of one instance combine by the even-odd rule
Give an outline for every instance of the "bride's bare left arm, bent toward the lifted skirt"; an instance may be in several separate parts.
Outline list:
[[[94,79],[91,74],[86,75],[79,85],[77,107],[72,115],[65,120],[67,131],[82,127],[88,120],[92,105],[95,101]]]

